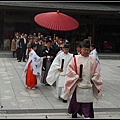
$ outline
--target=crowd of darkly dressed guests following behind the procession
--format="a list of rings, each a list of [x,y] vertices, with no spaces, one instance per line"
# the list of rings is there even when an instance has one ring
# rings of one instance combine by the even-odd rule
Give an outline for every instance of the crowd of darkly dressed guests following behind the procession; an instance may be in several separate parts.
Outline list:
[[[54,49],[54,57],[57,52],[61,50],[61,47],[64,45],[65,40],[59,38],[54,34],[51,36],[44,36],[40,32],[27,35],[26,33],[20,34],[15,32],[14,37],[11,41],[11,51],[13,52],[13,57],[16,57],[18,62],[21,60],[25,61],[28,58],[28,53],[30,50],[31,43],[38,44],[38,49],[36,53],[39,56],[42,56],[43,49],[48,45]]]

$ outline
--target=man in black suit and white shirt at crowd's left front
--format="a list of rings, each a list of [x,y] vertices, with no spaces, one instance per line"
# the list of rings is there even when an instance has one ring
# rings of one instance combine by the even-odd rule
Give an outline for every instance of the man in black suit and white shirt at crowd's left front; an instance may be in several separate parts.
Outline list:
[[[23,59],[23,62],[26,62],[26,49],[27,49],[27,34],[24,34],[23,37],[19,41],[19,46],[20,46],[20,58],[18,62],[21,62]]]

